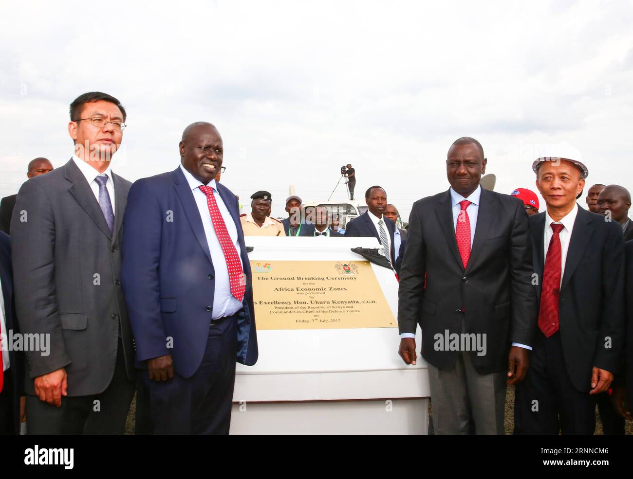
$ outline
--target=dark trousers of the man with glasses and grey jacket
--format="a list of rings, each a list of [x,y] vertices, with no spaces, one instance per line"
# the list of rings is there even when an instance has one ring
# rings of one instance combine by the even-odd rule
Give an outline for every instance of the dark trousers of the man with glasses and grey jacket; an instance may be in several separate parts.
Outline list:
[[[115,371],[101,394],[61,396],[61,407],[27,394],[27,434],[108,434],[125,432],[125,419],[134,396],[135,380],[125,371],[121,338],[118,339]]]

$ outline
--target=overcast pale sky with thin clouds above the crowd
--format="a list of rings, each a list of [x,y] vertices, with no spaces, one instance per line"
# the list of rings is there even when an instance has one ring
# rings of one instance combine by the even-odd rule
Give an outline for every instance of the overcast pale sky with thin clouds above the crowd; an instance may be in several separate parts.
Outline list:
[[[631,189],[631,25],[630,1],[3,1],[0,195],[34,157],[68,161],[68,105],[92,90],[128,112],[116,173],[174,169],[184,127],[210,121],[222,183],[242,203],[270,191],[273,215],[289,185],[326,200],[351,163],[356,196],[382,185],[406,220],[448,188],[460,136],[496,191],[535,189],[535,152],[560,142],[590,185]]]

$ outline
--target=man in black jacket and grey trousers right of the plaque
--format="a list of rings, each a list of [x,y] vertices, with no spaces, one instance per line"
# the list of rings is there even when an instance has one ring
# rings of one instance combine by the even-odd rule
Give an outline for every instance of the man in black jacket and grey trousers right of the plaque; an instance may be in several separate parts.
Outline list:
[[[459,138],[446,160],[451,188],[411,210],[399,354],[415,364],[420,324],[436,434],[469,434],[472,425],[475,434],[504,434],[506,381],[522,380],[529,365],[536,297],[528,218],[517,198],[481,188],[486,163],[477,140]]]

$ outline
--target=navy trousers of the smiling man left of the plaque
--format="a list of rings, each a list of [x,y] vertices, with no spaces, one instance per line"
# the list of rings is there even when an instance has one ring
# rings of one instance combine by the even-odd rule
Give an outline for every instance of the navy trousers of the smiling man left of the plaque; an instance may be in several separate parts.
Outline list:
[[[237,355],[237,317],[211,325],[202,362],[189,378],[141,373],[153,434],[229,434]],[[140,388],[139,388],[140,389]]]

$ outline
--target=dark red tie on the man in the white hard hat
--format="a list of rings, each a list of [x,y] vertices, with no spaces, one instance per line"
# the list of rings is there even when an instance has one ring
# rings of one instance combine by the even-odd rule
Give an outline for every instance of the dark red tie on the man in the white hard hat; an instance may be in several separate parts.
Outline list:
[[[545,337],[558,331],[558,297],[560,296],[560,236],[562,224],[551,224],[554,234],[549,241],[548,254],[545,257],[541,287],[541,309],[539,310],[539,329]]]

